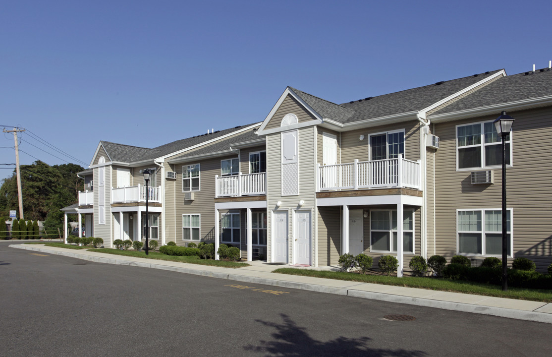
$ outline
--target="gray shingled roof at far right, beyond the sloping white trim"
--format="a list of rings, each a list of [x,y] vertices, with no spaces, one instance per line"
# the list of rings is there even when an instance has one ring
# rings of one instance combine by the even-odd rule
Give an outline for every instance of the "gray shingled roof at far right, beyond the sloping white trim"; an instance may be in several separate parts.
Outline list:
[[[552,70],[526,73],[502,77],[432,115],[552,95]]]

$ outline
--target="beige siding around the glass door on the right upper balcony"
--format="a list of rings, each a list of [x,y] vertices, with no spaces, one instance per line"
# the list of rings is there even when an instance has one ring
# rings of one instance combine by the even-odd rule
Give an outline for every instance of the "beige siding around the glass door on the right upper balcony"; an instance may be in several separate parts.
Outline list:
[[[359,161],[368,161],[368,145],[370,135],[377,133],[391,132],[394,130],[405,130],[405,159],[416,161],[420,159],[420,123],[417,120],[411,120],[406,123],[385,125],[368,129],[351,130],[341,133],[341,162],[346,164]],[[364,140],[360,141],[360,135],[364,135]]]

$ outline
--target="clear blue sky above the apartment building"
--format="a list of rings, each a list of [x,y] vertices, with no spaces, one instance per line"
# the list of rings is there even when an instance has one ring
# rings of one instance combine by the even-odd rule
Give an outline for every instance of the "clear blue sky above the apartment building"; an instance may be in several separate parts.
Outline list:
[[[100,140],[152,148],[260,122],[288,85],[343,103],[496,69],[525,72],[552,60],[548,8],[545,1],[5,1],[0,128],[26,128],[88,164]],[[0,163],[12,163],[13,135],[2,135]],[[22,137],[21,164],[66,163],[52,153],[86,167]],[[4,167],[0,179],[12,174]]]

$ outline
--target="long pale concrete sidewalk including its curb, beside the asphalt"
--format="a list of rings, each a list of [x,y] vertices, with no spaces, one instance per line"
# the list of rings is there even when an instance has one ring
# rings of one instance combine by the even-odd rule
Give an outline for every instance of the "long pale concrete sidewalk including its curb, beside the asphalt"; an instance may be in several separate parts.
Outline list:
[[[141,266],[240,281],[247,284],[264,284],[527,321],[552,323],[552,303],[277,274],[272,271],[288,265],[270,265],[263,261],[250,261],[248,263],[251,264],[251,266],[232,269],[219,266],[185,264],[174,261],[95,253],[86,250],[54,248],[44,245],[17,244],[10,245],[10,247],[70,256],[72,258],[94,261],[96,263]]]

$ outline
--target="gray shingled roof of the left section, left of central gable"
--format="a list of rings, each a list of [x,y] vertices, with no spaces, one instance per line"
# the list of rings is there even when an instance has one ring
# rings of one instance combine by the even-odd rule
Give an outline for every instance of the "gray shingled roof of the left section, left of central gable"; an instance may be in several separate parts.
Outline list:
[[[172,143],[157,146],[156,148],[152,148],[152,149],[140,148],[138,146],[130,146],[130,145],[124,145],[124,144],[110,143],[109,141],[100,141],[100,143],[103,145],[105,151],[107,151],[107,154],[113,161],[136,162],[136,161],[142,161],[142,160],[155,159],[160,156],[175,153],[176,151],[189,148],[190,146],[198,145],[198,144],[204,143],[205,141],[222,137],[223,135],[226,135],[226,134],[231,134],[232,132],[236,132],[237,130],[241,130],[253,124],[238,125],[237,127],[218,130],[214,133],[197,135],[195,137],[173,141]]]

